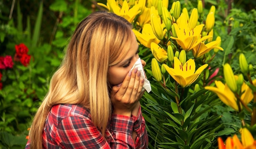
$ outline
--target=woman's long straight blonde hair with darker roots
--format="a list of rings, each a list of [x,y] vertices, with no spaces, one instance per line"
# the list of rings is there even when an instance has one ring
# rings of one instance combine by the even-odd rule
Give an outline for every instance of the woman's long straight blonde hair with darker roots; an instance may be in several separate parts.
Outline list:
[[[112,112],[108,69],[120,62],[130,49],[131,29],[127,20],[106,11],[91,13],[78,24],[61,66],[52,76],[49,91],[34,116],[29,131],[31,149],[42,149],[45,120],[56,104],[90,108],[93,124],[105,137]]]

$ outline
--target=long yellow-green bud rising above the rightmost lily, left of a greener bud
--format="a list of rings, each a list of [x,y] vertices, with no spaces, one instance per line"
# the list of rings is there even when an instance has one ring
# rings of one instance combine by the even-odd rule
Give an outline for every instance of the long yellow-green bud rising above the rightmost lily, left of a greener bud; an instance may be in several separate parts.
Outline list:
[[[237,91],[236,80],[233,70],[228,63],[224,64],[224,78],[229,89],[235,93]]]

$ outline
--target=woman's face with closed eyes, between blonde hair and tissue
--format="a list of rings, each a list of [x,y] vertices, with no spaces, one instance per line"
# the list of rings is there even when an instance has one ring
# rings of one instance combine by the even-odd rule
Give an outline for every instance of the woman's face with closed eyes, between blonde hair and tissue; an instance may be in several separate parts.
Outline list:
[[[124,59],[108,69],[108,81],[111,85],[118,85],[124,81],[124,78],[139,58],[138,47],[139,45],[137,43],[136,37],[133,34],[131,47]],[[143,66],[146,65],[146,62],[144,60],[141,60],[141,63]]]

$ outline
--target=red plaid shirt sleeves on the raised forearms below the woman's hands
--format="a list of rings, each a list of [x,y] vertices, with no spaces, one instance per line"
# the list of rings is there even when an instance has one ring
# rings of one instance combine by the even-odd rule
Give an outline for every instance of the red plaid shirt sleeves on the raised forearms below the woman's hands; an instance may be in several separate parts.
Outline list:
[[[110,129],[114,137],[111,141],[112,149],[146,149],[148,147],[148,135],[141,108],[137,117],[113,114]],[[135,143],[132,140],[132,131],[137,132]]]

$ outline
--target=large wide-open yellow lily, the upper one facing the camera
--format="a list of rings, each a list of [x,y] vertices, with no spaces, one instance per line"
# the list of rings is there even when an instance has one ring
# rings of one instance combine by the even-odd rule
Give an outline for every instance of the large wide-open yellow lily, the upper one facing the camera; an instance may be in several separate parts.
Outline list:
[[[171,38],[176,40],[177,43],[180,45],[180,47],[182,47],[182,49],[185,50],[186,52],[193,49],[195,46],[200,44],[200,42],[208,38],[211,38],[211,36],[204,36],[200,38],[201,37],[200,33],[203,29],[204,24],[197,25],[191,31],[189,31],[187,24],[184,24],[184,25],[180,24],[180,26],[182,26],[181,28],[179,28],[176,23],[174,23],[173,25],[174,25],[177,38],[172,36]]]

